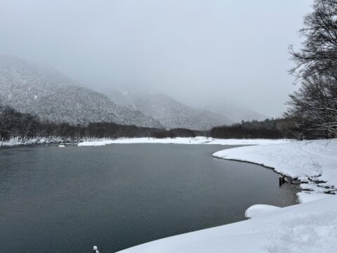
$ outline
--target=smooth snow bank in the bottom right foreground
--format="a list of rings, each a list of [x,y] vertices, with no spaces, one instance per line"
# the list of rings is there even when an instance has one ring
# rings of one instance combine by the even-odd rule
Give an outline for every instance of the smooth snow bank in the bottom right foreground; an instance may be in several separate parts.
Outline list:
[[[337,252],[337,196],[326,196],[247,221],[176,235],[119,253]]]

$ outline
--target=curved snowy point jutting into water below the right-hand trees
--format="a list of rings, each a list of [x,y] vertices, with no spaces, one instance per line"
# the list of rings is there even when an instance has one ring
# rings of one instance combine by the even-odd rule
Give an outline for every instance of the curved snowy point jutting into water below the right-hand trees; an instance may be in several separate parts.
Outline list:
[[[323,191],[327,191],[325,188],[336,190],[337,139],[232,148],[214,153],[213,157],[272,167],[281,174],[308,183],[302,188],[317,192],[319,188]]]

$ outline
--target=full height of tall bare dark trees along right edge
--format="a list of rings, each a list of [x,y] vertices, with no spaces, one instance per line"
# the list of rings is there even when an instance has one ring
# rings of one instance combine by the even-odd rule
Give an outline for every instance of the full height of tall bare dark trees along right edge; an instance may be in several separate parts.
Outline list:
[[[300,82],[290,95],[286,116],[300,138],[337,137],[337,0],[315,0],[304,18],[300,51],[291,55],[291,73]]]

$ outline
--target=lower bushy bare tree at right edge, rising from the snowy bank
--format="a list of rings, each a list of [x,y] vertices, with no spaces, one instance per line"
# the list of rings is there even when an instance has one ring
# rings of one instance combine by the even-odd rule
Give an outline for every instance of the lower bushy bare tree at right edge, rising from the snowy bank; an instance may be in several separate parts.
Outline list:
[[[294,130],[302,133],[301,137],[337,137],[336,84],[335,78],[314,72],[305,76],[300,89],[290,95],[291,107],[286,115],[294,119]]]

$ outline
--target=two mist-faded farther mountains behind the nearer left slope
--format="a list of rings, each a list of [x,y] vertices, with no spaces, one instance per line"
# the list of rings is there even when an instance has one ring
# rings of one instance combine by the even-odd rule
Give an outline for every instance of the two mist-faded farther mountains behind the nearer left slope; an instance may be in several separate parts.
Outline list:
[[[267,116],[249,108],[216,101],[206,103],[204,108],[185,105],[161,93],[133,92],[126,89],[106,92],[115,103],[132,110],[140,110],[168,128],[192,126],[192,129],[209,129],[212,126],[233,124],[242,120],[263,120]]]

